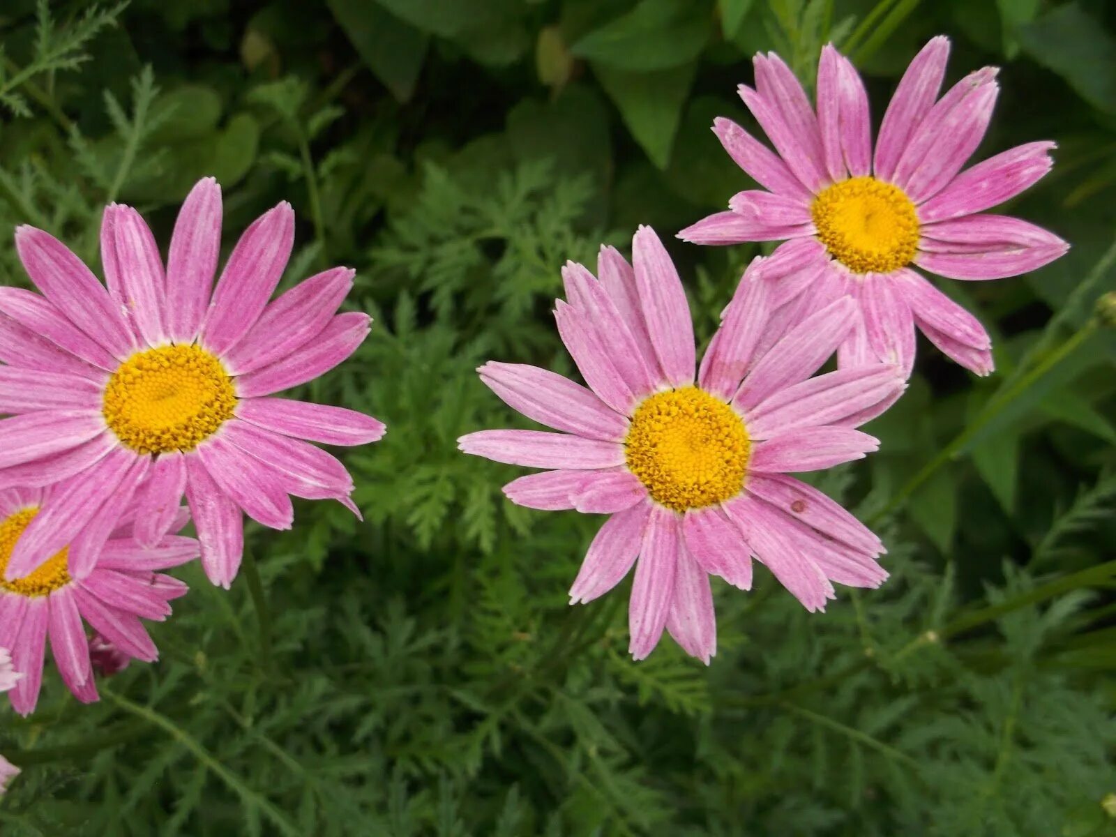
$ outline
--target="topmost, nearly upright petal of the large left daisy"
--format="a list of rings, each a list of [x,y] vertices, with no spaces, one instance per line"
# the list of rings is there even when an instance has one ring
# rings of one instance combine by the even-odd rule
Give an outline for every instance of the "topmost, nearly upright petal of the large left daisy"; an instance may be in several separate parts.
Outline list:
[[[198,336],[209,308],[221,250],[221,186],[213,177],[194,184],[179,210],[166,259],[166,329],[175,343]]]

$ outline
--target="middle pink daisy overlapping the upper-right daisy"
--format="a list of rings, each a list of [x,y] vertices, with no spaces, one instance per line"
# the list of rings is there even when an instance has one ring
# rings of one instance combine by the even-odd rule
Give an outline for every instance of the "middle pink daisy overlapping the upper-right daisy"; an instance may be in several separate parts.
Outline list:
[[[462,451],[549,469],[504,487],[533,509],[612,514],[589,546],[573,604],[615,587],[635,566],[629,650],[646,657],[665,627],[709,663],[716,627],[709,576],[750,589],[752,557],[809,610],[831,581],[876,587],[879,539],[820,491],[787,477],[877,448],[860,413],[904,386],[873,364],[810,377],[854,328],[856,304],[830,302],[761,345],[771,283],[750,269],[694,376],[685,291],[655,232],[633,241],[635,269],[613,248],[562,270],[555,316],[589,387],[535,366],[488,363],[481,379],[510,406],[559,433],[487,430]],[[762,266],[762,260],[758,262]]]

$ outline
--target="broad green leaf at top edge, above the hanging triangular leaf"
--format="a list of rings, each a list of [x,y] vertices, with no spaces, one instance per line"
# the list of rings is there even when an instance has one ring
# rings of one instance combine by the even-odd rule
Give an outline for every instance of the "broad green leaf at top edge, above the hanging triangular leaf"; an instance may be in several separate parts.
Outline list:
[[[623,70],[661,70],[693,61],[709,40],[704,2],[643,0],[578,40],[570,52]]]

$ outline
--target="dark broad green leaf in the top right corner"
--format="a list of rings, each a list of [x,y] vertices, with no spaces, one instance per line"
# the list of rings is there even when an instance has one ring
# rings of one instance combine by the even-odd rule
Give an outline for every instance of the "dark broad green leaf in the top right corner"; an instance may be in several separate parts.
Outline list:
[[[1116,39],[1078,2],[1020,27],[1023,51],[1066,79],[1086,102],[1116,113]]]

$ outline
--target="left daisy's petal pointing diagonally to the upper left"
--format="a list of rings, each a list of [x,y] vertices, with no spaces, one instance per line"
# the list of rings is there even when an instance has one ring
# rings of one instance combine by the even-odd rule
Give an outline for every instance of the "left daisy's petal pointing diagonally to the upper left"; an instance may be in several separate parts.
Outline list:
[[[135,349],[124,314],[105,286],[58,239],[33,227],[16,228],[16,250],[42,296],[113,356]]]

